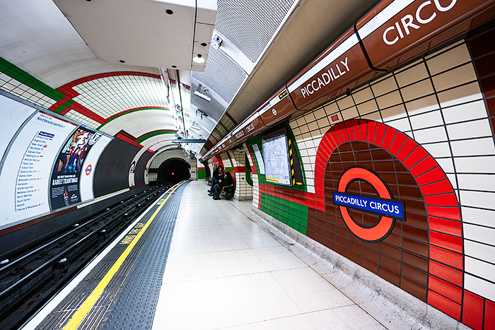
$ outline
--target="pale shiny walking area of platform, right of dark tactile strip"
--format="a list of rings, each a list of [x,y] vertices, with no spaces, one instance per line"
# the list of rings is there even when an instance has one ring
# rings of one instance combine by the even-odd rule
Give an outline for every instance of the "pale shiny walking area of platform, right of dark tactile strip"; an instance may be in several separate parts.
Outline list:
[[[153,329],[420,329],[262,220],[185,188]],[[373,315],[373,316],[372,316]],[[424,328],[421,328],[424,329]]]

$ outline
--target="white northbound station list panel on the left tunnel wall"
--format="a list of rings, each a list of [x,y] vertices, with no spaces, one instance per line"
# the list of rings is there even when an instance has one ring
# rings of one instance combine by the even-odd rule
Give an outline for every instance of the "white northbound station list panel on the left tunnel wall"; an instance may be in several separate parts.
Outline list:
[[[1,168],[0,228],[50,212],[47,187],[52,164],[75,128],[44,112],[38,112],[25,124]]]

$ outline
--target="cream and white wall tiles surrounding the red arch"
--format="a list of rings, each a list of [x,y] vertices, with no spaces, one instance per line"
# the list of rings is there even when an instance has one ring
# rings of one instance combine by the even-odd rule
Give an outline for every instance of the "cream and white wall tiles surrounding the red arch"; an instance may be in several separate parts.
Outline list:
[[[338,119],[332,121],[334,114]],[[457,42],[291,120],[308,192],[315,191],[315,154],[330,122],[357,118],[399,129],[441,165],[462,210],[465,288],[495,300],[495,144],[465,43]]]

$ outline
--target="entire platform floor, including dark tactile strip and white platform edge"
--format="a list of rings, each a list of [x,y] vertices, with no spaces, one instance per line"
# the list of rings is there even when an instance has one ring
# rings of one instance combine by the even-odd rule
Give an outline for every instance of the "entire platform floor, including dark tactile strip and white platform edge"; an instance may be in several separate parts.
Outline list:
[[[112,279],[119,283],[109,280],[96,305],[83,302],[100,280],[90,289],[76,286],[87,279],[74,288],[69,284],[24,329],[426,329],[358,278],[255,216],[251,201],[214,201],[207,189],[204,181],[187,182],[169,201],[164,195],[151,206],[139,221],[152,221],[155,212],[157,224],[122,264],[129,271]],[[122,253],[115,249],[127,242],[122,237],[107,247],[107,257],[93,261],[98,266],[87,276],[96,272],[103,278],[106,270],[98,267],[112,266]],[[157,244],[163,248],[157,250]],[[85,308],[91,316],[71,326]]]

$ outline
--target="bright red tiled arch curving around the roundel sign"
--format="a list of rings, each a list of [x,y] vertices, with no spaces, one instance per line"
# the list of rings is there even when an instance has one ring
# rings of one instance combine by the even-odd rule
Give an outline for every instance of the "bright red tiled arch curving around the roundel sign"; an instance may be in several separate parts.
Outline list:
[[[463,290],[464,258],[458,199],[436,160],[406,134],[366,119],[353,119],[332,126],[323,136],[316,154],[315,194],[318,209],[323,207],[321,211],[325,210],[322,205],[325,201],[325,167],[330,155],[335,148],[349,141],[372,143],[394,155],[409,170],[421,189],[429,223],[429,305],[458,320],[462,314],[462,321],[472,317],[482,318],[483,309],[476,308],[474,311],[470,302],[483,298]]]

